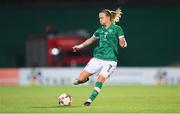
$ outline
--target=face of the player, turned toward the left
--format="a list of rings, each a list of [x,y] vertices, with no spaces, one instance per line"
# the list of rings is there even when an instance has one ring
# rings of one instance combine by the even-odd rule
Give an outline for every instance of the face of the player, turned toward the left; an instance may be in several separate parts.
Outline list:
[[[110,17],[101,12],[99,13],[99,21],[101,25],[106,25],[110,21]]]

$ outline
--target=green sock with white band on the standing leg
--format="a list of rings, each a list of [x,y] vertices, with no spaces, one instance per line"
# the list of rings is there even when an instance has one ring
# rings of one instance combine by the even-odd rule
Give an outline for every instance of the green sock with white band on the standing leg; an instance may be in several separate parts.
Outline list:
[[[91,99],[91,101],[93,101],[97,97],[97,95],[99,94],[99,92],[100,92],[100,90],[102,88],[102,85],[103,85],[103,83],[96,82],[94,90],[93,90],[93,92],[92,92],[92,94],[91,94],[91,96],[89,98],[89,99]]]

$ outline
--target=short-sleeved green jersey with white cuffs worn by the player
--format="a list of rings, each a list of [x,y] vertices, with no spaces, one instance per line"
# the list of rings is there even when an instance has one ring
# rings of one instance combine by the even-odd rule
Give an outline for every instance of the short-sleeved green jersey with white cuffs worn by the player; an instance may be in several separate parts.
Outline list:
[[[122,28],[111,23],[108,28],[101,26],[93,35],[99,40],[93,56],[98,59],[117,61],[119,38],[124,36]]]

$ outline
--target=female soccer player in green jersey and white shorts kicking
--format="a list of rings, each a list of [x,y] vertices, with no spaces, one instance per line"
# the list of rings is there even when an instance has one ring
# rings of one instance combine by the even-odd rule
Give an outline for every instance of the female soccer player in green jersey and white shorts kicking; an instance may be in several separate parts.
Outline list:
[[[89,80],[89,76],[97,72],[99,73],[95,88],[89,99],[84,102],[84,106],[91,105],[92,101],[94,101],[100,92],[105,80],[108,79],[116,69],[118,45],[122,48],[127,47],[122,28],[115,24],[119,22],[121,15],[122,12],[119,8],[116,11],[108,9],[102,10],[99,13],[99,21],[102,26],[96,30],[91,38],[80,45],[72,47],[73,51],[77,52],[95,41],[99,42],[98,46],[94,49],[93,58],[74,82],[74,85],[85,83]]]

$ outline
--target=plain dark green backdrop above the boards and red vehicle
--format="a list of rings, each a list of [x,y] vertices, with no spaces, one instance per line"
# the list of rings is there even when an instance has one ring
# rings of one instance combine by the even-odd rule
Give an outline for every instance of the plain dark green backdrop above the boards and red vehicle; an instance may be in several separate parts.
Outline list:
[[[99,26],[98,13],[120,7],[128,42],[119,49],[119,66],[174,66],[180,62],[178,0],[2,0],[0,2],[0,67],[25,67],[25,42],[44,34],[47,24],[59,32]]]

